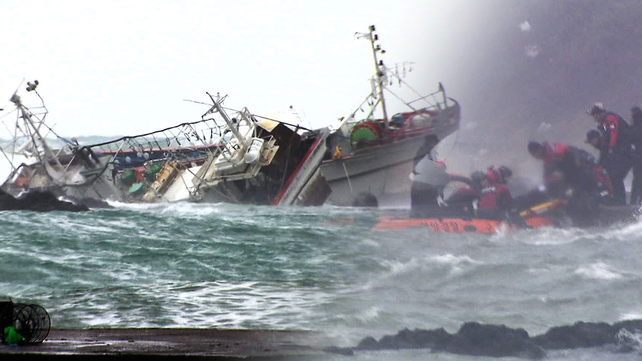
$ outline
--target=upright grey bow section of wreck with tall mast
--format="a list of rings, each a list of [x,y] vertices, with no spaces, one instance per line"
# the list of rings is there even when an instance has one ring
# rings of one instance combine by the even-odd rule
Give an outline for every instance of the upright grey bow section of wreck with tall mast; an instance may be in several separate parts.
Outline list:
[[[444,139],[459,127],[460,105],[446,96],[442,84],[436,92],[422,96],[403,80],[410,64],[387,67],[377,60],[382,50],[376,45],[374,26],[369,32],[357,33],[372,45],[375,75],[370,79],[372,91],[354,112],[334,127],[327,139],[328,152],[321,164],[321,172],[332,189],[327,203],[351,206],[356,198],[367,194],[379,206],[408,206],[413,166],[433,143]],[[385,94],[401,97],[390,89],[397,82],[419,98],[403,101],[407,111],[388,117]],[[361,120],[358,110],[370,107]],[[381,109],[382,118],[374,113]]]

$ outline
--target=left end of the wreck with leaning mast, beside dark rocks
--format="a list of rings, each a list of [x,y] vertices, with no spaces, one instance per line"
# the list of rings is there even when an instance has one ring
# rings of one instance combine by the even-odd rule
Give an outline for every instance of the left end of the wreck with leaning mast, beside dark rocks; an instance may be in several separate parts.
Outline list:
[[[10,98],[15,107],[3,109],[1,116],[10,132],[0,147],[9,168],[2,189],[13,197],[30,190],[76,199],[118,195],[117,186],[102,177],[111,168],[110,155],[97,154],[56,134],[46,124],[48,110],[36,90],[39,82],[27,85],[26,91],[36,94],[39,101],[28,107],[15,91]]]

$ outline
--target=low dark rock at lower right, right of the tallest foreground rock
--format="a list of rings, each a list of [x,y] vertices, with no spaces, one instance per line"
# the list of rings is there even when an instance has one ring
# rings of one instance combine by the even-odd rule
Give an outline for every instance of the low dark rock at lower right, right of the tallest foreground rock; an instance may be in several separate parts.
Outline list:
[[[550,328],[533,338],[535,344],[546,349],[590,348],[614,344],[618,328],[606,322],[575,322],[573,326]]]

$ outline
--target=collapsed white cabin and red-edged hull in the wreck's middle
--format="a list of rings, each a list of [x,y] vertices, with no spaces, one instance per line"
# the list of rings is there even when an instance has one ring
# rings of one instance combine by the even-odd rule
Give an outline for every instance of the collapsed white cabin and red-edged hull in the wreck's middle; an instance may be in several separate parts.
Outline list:
[[[164,169],[167,176],[155,180],[144,200],[300,206],[324,203],[330,189],[319,165],[325,154],[327,128],[309,130],[257,116],[247,108],[230,117],[221,105],[225,97],[210,98],[213,105],[202,119],[224,129],[219,152],[191,167],[171,164]]]

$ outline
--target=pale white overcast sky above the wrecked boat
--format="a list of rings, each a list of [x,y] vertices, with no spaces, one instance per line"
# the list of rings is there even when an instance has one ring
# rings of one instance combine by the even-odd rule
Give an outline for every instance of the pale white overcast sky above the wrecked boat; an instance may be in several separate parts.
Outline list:
[[[24,78],[39,80],[62,136],[195,121],[207,107],[184,99],[208,101],[206,91],[259,115],[293,105],[322,127],[370,91],[372,53],[355,31],[376,25],[386,64],[415,62],[406,80],[432,92],[444,51],[459,56],[451,39],[474,31],[462,3],[473,2],[4,0],[0,107]],[[390,103],[390,114],[407,110]]]

